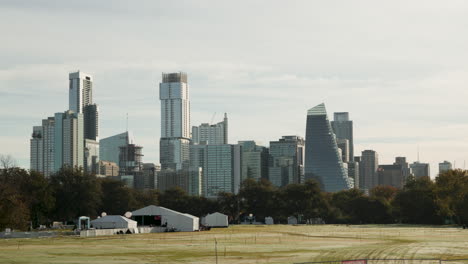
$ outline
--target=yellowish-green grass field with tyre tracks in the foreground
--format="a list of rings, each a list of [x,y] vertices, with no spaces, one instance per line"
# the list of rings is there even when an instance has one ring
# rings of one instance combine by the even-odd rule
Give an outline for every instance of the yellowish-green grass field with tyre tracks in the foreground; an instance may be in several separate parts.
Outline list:
[[[216,242],[218,263],[468,259],[468,230],[460,228],[274,225],[192,233],[0,240],[0,263],[216,263]]]

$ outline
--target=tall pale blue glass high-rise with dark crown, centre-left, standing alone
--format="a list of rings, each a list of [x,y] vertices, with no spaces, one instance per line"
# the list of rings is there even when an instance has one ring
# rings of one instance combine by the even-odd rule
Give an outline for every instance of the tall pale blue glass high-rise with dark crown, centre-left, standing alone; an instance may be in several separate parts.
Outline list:
[[[163,73],[161,100],[161,169],[188,167],[190,144],[190,97],[186,73]]]

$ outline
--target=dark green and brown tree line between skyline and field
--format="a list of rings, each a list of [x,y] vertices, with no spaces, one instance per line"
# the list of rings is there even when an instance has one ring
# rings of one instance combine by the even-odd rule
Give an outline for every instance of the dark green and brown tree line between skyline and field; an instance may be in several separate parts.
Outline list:
[[[320,218],[336,224],[447,224],[468,223],[468,171],[450,170],[431,180],[409,178],[402,189],[377,186],[365,194],[351,189],[320,190],[317,182],[277,188],[268,180],[245,180],[238,194],[220,193],[217,199],[190,196],[180,188],[160,193],[135,190],[123,182],[98,178],[77,168],[63,168],[49,178],[18,167],[0,170],[0,230],[19,230],[73,222],[79,216],[102,212],[123,215],[147,205],[160,205],[198,217],[222,212],[232,223],[246,215],[262,222],[273,217],[286,223]]]

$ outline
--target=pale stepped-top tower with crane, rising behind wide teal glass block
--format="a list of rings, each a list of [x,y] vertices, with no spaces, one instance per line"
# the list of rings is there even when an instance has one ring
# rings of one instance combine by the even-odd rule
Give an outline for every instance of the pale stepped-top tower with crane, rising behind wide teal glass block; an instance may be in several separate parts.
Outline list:
[[[228,119],[227,114],[224,114],[224,120],[210,125],[203,123],[200,126],[192,127],[192,143],[200,144],[206,142],[210,145],[228,144]]]

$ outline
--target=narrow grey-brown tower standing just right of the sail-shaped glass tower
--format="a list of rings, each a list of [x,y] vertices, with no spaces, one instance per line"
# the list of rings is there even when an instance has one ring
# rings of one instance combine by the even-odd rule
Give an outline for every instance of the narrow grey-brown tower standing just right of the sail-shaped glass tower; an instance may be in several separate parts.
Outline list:
[[[379,167],[379,155],[373,150],[364,150],[361,154],[359,189],[370,190],[377,186]]]

